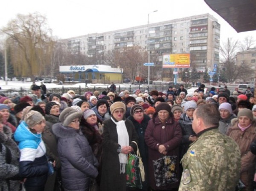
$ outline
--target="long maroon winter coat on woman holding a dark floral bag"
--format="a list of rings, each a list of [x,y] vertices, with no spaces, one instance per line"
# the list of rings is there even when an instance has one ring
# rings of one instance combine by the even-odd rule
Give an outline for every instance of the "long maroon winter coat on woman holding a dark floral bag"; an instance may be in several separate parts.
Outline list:
[[[145,132],[145,142],[148,145],[148,164],[149,164],[149,180],[150,186],[154,190],[171,190],[172,188],[178,188],[179,182],[172,183],[165,187],[157,187],[154,178],[153,160],[158,160],[164,155],[158,151],[159,145],[166,147],[166,156],[177,156],[177,162],[175,169],[177,171],[177,177],[179,175],[179,145],[182,138],[182,132],[179,123],[169,118],[164,125],[160,122],[156,116],[154,120],[148,122],[148,127]]]

